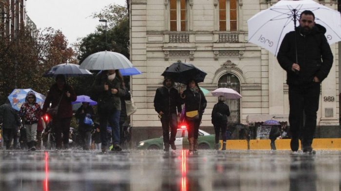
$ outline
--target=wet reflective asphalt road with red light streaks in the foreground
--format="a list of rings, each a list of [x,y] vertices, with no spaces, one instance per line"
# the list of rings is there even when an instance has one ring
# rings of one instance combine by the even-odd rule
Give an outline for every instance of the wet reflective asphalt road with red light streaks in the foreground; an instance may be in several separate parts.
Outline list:
[[[339,191],[340,151],[5,151],[1,191]]]

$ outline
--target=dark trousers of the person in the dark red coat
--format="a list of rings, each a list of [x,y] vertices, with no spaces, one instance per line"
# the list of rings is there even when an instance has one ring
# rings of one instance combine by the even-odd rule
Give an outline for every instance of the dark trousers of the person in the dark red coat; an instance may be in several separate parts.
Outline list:
[[[64,147],[69,147],[71,118],[55,118],[53,119],[54,131],[56,132],[56,147],[61,149],[62,142]],[[63,137],[61,136],[63,134]]]

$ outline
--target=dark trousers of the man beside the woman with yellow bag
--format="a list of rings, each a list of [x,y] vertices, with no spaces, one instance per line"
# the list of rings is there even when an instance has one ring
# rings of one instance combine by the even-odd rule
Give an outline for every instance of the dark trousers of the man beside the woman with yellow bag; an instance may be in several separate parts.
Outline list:
[[[163,143],[169,144],[174,143],[176,136],[176,129],[178,128],[177,116],[175,113],[170,115],[164,114],[161,117],[162,132],[163,132]]]

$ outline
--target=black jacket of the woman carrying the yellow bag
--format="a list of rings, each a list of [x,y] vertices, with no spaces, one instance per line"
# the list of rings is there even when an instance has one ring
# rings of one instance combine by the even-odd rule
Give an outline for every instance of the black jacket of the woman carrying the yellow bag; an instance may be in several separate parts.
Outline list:
[[[204,93],[201,90],[192,92],[186,89],[181,96],[185,104],[186,112],[198,110],[201,118],[207,105]]]

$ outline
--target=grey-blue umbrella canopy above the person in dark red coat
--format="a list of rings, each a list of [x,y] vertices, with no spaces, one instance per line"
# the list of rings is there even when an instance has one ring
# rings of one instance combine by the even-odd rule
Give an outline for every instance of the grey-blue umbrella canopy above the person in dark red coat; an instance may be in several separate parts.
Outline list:
[[[66,77],[75,77],[81,75],[93,75],[87,69],[80,69],[77,64],[58,64],[44,73],[44,77],[56,77],[58,74],[64,74]]]

